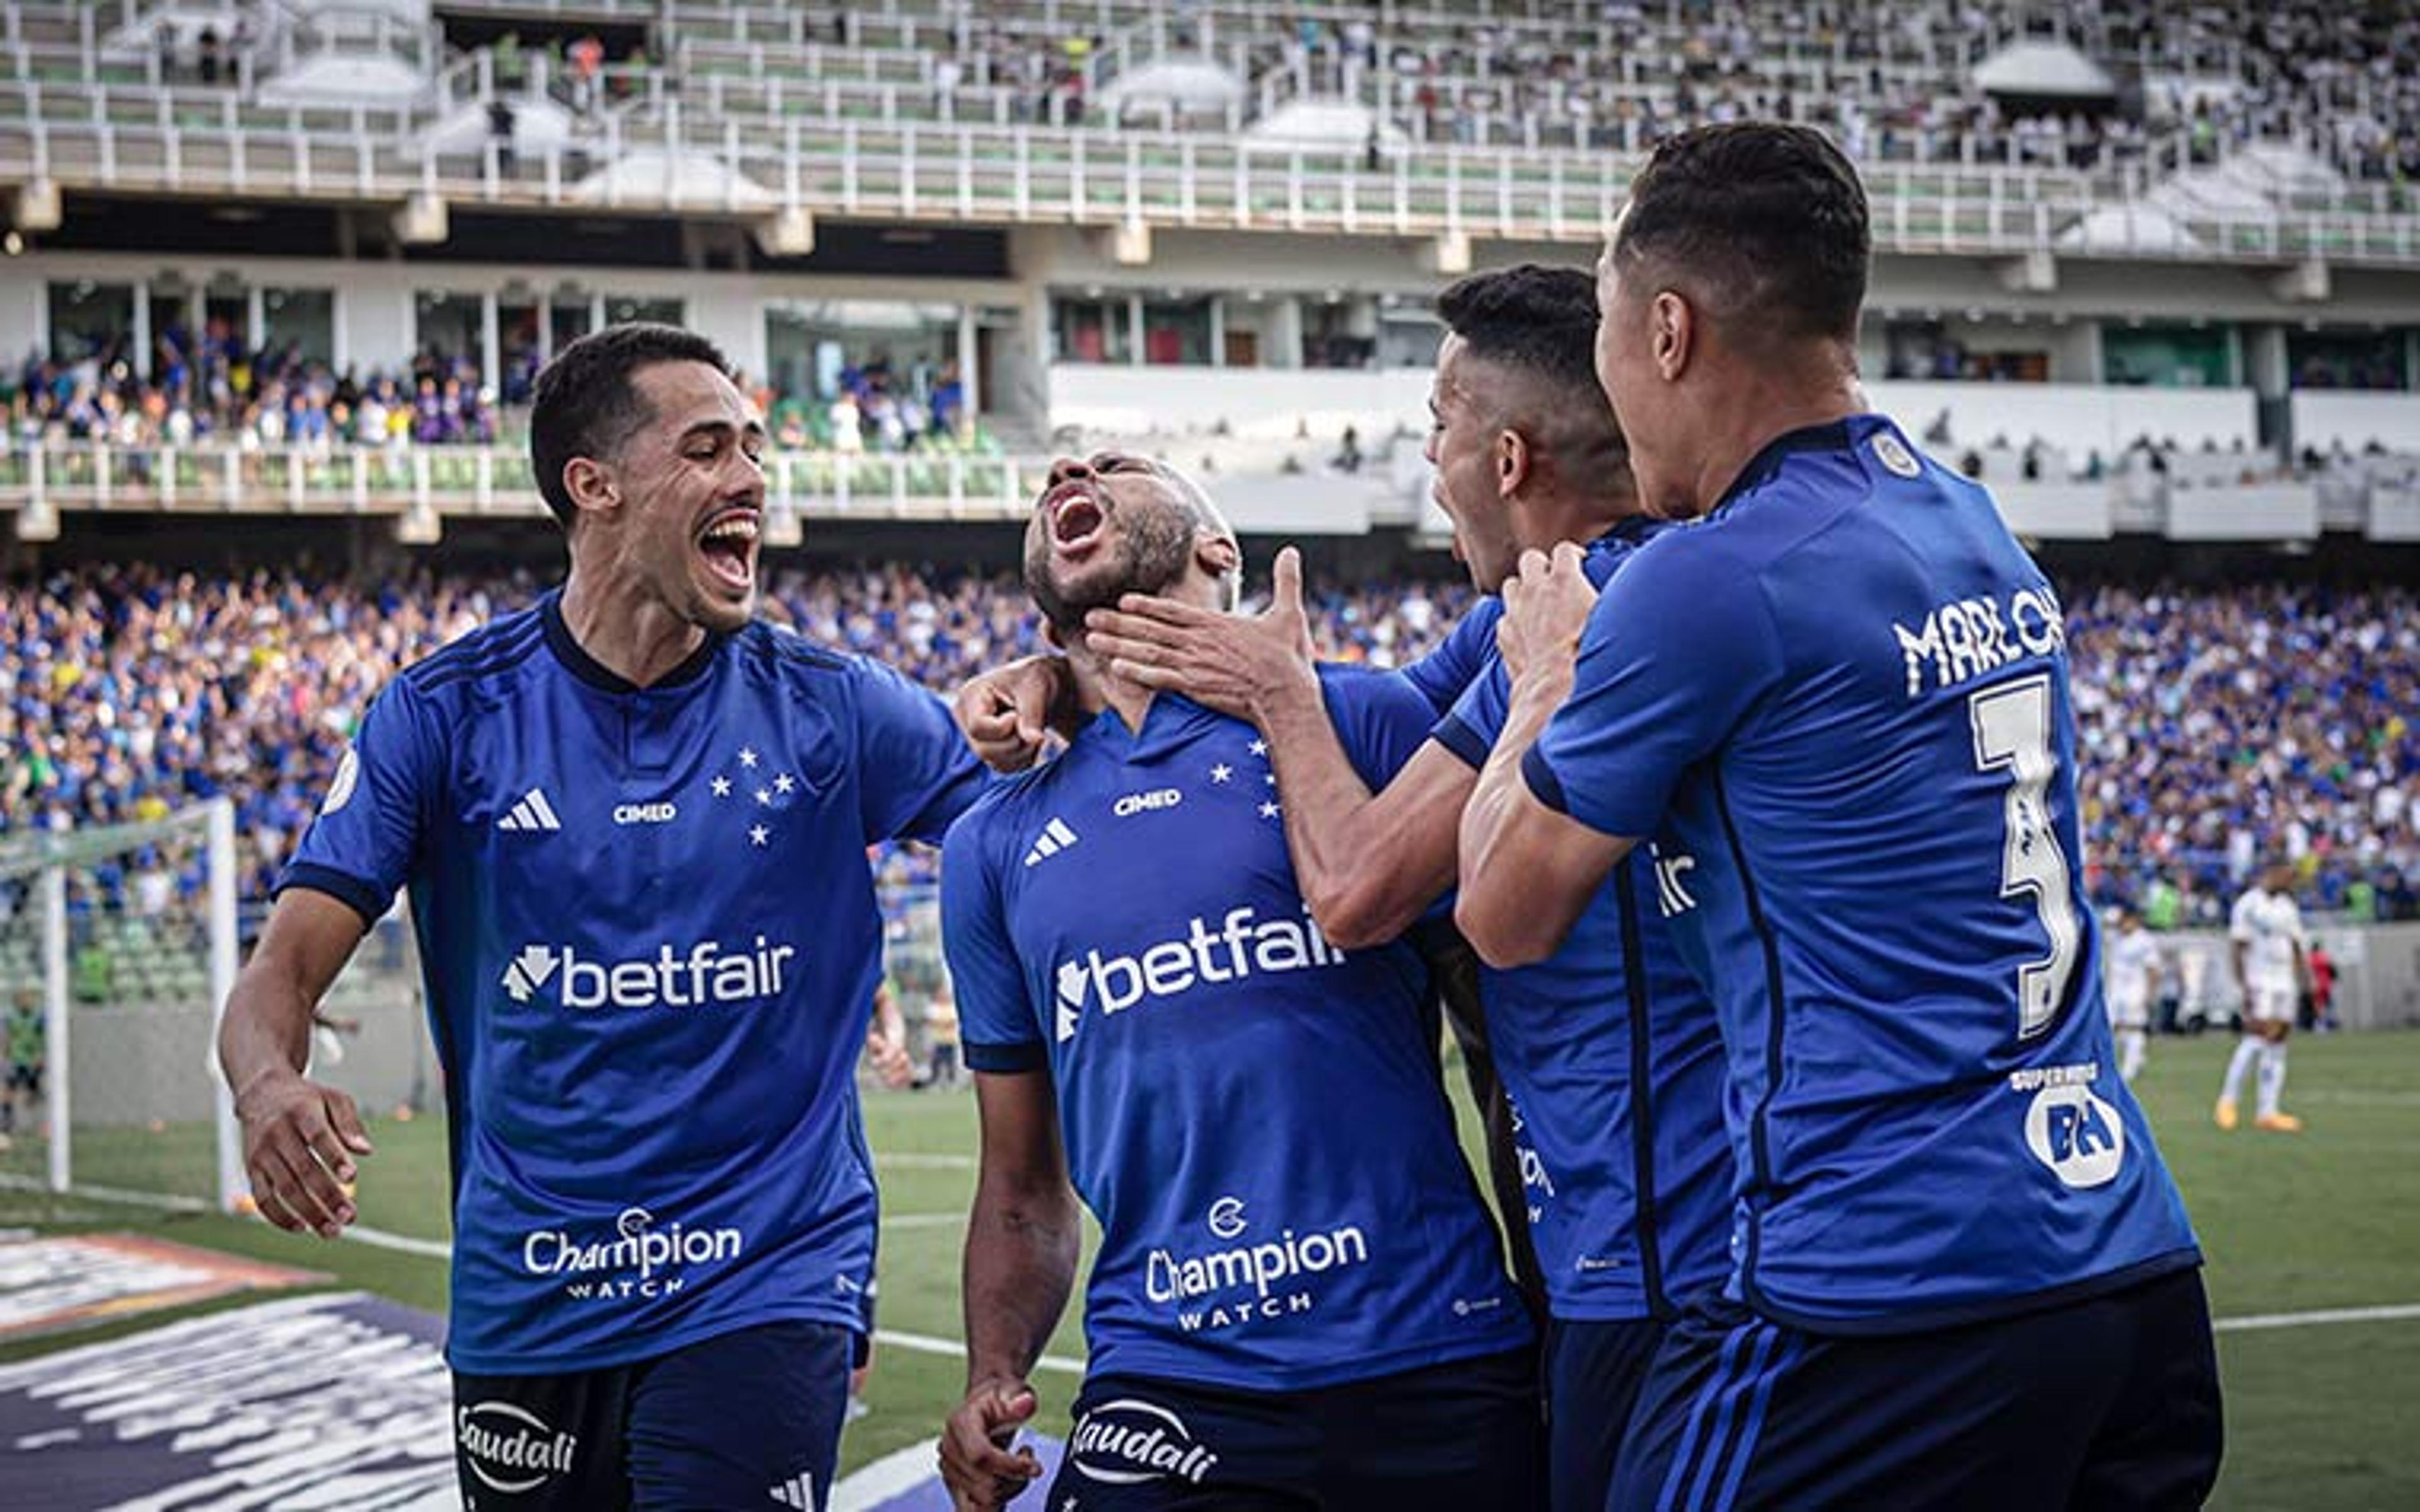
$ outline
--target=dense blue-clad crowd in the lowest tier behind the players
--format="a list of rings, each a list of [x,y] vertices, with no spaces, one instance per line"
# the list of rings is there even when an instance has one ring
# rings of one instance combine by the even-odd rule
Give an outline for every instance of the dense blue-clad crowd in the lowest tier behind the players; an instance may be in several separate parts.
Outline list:
[[[310,823],[394,673],[528,602],[528,576],[344,583],[97,566],[0,590],[0,835],[232,793],[244,898]],[[1004,576],[784,569],[767,614],[951,689],[1041,648]],[[1469,607],[1418,581],[1329,590],[1324,656],[1399,665]],[[2084,585],[2069,600],[2091,888],[2207,924],[2263,856],[2306,905],[2420,917],[2420,595]],[[929,881],[929,856],[886,859]]]

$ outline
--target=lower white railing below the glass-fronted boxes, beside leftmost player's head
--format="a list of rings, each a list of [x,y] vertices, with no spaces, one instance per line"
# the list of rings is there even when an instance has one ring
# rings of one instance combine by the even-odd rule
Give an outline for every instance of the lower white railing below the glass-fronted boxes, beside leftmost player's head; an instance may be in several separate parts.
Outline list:
[[[1036,457],[772,452],[779,515],[1012,520]],[[215,515],[544,515],[530,455],[508,445],[165,448],[82,440],[0,448],[0,508]]]

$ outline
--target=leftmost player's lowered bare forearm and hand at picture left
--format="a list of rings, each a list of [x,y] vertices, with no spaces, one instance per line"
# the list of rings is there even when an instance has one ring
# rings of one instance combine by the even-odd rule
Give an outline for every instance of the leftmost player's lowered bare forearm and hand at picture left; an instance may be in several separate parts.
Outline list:
[[[310,1081],[312,1011],[368,931],[348,902],[288,888],[235,977],[218,1026],[218,1064],[244,1125],[244,1173],[271,1224],[334,1239],[353,1222],[353,1156],[370,1154],[353,1098]]]

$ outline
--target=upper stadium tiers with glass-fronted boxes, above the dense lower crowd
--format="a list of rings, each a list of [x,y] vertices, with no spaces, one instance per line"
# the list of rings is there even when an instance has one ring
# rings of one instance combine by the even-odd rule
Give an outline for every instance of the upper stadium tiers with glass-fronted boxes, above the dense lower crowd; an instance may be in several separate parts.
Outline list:
[[[782,535],[1014,515],[1099,438],[1254,479],[1246,527],[1435,530],[1428,295],[1759,114],[1863,165],[1876,402],[2021,530],[2420,539],[2415,58],[2316,0],[12,0],[0,508],[528,515],[515,385],[675,319],[777,423]],[[361,433],[426,368],[499,445]]]

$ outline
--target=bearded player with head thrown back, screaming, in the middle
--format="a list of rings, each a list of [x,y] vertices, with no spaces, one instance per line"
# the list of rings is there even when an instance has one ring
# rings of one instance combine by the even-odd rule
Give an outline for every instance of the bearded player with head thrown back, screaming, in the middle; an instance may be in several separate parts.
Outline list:
[[[1529,1507],[1529,1321],[1454,1142],[1425,970],[1341,951],[1302,905],[1251,726],[1108,677],[1084,612],[1234,602],[1241,552],[1181,474],[1062,460],[1026,585],[1091,721],[975,803],[941,856],[941,936],[983,1161],[966,1239],[968,1393],[941,1439],[961,1507],[1036,1473],[999,1439],[1101,1222],[1089,1372],[1048,1505]],[[1326,677],[1365,772],[1425,699]]]

